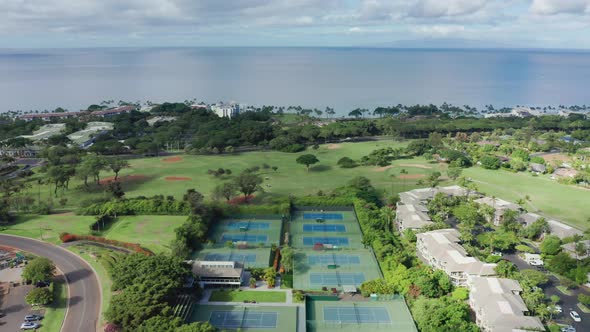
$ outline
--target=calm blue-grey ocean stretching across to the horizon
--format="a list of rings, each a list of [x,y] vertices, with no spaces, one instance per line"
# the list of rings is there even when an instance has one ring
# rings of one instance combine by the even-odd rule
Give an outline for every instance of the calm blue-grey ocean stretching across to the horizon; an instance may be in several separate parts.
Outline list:
[[[379,48],[0,50],[0,111],[103,100],[326,106],[590,104],[590,53]]]

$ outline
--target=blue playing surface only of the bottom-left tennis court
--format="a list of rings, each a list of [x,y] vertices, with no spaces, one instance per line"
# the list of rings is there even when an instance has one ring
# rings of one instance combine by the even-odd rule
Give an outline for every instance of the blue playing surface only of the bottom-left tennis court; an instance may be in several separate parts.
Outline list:
[[[213,311],[209,322],[219,329],[275,329],[277,312],[266,311]]]

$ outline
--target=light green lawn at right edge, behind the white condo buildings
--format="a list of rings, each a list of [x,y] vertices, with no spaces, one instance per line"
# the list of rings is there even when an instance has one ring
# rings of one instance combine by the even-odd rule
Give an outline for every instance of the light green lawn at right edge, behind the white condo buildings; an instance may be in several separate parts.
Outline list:
[[[530,197],[527,210],[564,221],[580,229],[590,227],[590,209],[582,202],[590,202],[590,190],[560,184],[548,176],[534,177],[530,173],[511,173],[503,170],[486,170],[473,167],[463,171],[473,178],[478,189],[515,202]]]

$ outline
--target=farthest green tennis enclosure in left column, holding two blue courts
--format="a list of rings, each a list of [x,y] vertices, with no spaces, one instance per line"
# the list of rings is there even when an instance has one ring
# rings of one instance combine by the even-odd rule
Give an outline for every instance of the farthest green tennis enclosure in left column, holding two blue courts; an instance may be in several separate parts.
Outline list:
[[[270,247],[279,244],[281,239],[281,217],[276,219],[256,217],[234,217],[222,219],[213,224],[209,239],[216,247],[223,247],[226,242],[247,243],[251,247]]]

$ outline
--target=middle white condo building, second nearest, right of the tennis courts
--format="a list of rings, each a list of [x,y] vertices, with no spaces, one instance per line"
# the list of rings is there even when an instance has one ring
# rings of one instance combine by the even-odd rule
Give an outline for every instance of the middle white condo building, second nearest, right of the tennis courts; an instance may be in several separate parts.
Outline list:
[[[483,263],[467,254],[459,244],[459,232],[440,229],[416,234],[418,256],[428,265],[443,270],[456,286],[467,286],[470,276],[494,276],[496,264]]]

